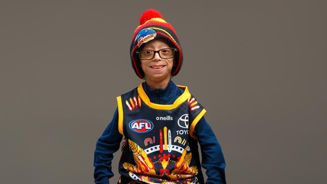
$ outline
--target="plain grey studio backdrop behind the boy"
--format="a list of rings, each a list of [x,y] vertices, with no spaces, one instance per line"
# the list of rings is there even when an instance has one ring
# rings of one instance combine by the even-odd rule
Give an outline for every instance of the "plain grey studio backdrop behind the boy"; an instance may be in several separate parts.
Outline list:
[[[323,183],[324,1],[1,1],[0,183],[92,183],[129,59],[154,8],[184,51],[173,80],[208,113],[228,183]],[[113,170],[117,181],[115,154]]]

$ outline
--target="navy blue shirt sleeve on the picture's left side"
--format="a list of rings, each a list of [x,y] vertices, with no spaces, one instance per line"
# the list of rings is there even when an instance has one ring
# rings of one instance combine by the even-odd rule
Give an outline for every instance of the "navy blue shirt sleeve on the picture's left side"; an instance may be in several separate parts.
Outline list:
[[[111,170],[113,153],[120,147],[123,136],[118,131],[118,110],[112,121],[97,141],[94,153],[94,181],[97,184],[109,184],[109,178],[114,175]]]

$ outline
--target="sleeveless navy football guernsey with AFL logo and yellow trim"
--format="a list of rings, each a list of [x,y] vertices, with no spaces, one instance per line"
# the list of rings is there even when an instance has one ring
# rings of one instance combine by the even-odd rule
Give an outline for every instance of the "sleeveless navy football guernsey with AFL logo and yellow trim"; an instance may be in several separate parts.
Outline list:
[[[184,93],[171,105],[151,103],[143,84],[117,97],[124,135],[119,183],[204,183],[194,128],[204,108]]]

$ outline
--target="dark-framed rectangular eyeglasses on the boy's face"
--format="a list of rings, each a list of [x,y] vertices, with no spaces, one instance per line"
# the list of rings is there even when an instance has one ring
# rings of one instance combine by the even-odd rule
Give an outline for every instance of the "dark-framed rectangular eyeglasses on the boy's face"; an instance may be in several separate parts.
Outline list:
[[[141,60],[153,59],[155,53],[158,53],[162,59],[169,59],[174,57],[175,52],[177,52],[176,48],[166,48],[160,50],[146,49],[146,50],[138,50],[136,51],[136,54],[138,54]]]

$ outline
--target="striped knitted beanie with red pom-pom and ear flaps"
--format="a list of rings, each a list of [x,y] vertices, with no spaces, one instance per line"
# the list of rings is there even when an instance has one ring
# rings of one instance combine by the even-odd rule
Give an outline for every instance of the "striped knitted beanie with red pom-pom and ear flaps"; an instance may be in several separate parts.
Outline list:
[[[178,51],[174,56],[172,76],[177,75],[183,63],[183,53],[177,34],[172,25],[163,20],[156,10],[146,10],[140,17],[140,25],[135,29],[130,47],[130,56],[136,75],[144,79],[144,72],[136,51],[141,50],[146,42],[161,39]]]

